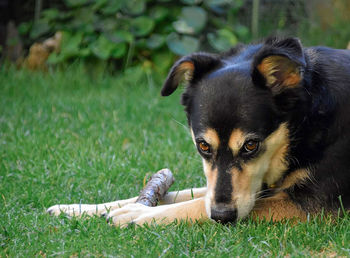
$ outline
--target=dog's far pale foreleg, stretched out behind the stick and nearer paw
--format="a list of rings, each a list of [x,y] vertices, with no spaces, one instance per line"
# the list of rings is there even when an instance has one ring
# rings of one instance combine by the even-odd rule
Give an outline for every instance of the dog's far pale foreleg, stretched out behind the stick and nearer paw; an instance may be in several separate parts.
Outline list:
[[[163,200],[160,200],[160,204],[184,202],[202,197],[205,195],[205,193],[206,187],[169,192],[164,196]],[[102,204],[58,204],[48,208],[47,212],[52,215],[59,215],[61,213],[65,213],[70,216],[81,216],[83,214],[89,216],[100,216],[102,214],[105,214],[106,212],[122,208],[127,204],[135,203],[136,200],[137,197]]]

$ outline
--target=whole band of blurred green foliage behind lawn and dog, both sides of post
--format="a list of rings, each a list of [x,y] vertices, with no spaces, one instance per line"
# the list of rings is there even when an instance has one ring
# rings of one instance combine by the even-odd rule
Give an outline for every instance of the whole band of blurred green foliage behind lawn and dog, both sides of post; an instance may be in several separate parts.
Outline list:
[[[349,3],[260,1],[252,36],[249,0],[57,0],[47,2],[39,20],[18,29],[26,49],[63,32],[60,52],[49,57],[51,65],[78,60],[93,72],[137,66],[147,76],[161,77],[179,55],[221,52],[274,34],[300,37],[305,46],[344,48],[350,40]]]

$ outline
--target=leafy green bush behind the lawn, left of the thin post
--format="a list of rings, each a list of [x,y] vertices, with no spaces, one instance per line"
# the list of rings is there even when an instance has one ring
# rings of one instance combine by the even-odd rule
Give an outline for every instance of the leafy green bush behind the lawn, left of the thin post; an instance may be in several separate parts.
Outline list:
[[[236,15],[243,0],[64,0],[20,26],[31,41],[63,31],[51,64],[80,58],[125,68],[168,69],[175,55],[223,51],[249,37]],[[170,51],[169,51],[170,50]]]

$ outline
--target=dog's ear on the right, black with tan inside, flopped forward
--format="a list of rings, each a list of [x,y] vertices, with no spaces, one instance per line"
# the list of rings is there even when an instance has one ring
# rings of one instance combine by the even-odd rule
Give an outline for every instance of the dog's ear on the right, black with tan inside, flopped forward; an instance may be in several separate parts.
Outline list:
[[[305,66],[299,39],[270,38],[254,58],[252,79],[255,84],[267,86],[277,95],[301,84]]]

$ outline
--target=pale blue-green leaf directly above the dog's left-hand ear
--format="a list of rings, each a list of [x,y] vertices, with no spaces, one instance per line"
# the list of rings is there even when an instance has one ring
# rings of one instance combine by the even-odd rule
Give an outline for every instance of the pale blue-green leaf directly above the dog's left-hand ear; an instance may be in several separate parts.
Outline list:
[[[167,44],[171,51],[178,55],[188,55],[199,48],[199,40],[191,36],[179,36],[171,33],[167,37]]]

